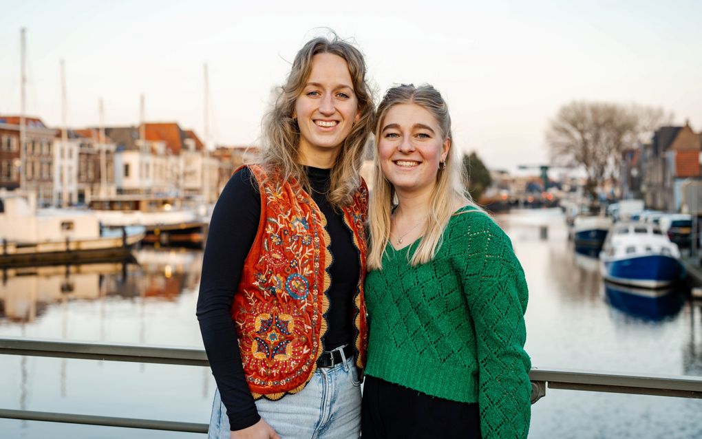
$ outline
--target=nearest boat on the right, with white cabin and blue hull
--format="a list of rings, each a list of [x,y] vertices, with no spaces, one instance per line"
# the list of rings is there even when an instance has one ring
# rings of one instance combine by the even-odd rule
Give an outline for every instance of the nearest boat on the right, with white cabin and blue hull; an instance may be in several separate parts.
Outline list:
[[[600,253],[602,277],[610,282],[662,288],[684,276],[680,249],[653,224],[617,223]]]

